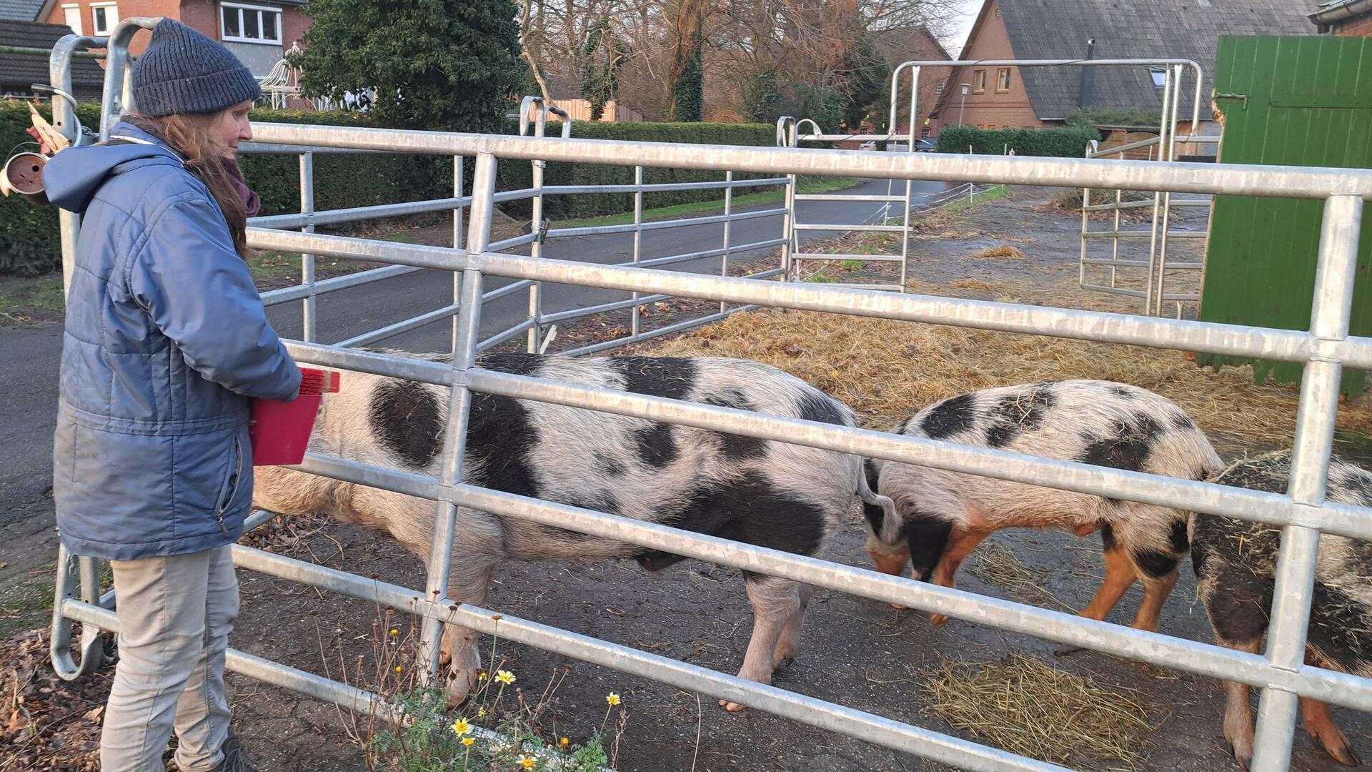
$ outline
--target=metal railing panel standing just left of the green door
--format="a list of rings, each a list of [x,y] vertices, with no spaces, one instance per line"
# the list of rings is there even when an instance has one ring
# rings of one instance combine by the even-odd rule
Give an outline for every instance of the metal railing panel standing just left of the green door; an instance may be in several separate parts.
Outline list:
[[[1220,137],[1217,136],[1188,136],[1184,143],[1195,144],[1220,144]],[[1154,136],[1139,141],[1131,141],[1126,144],[1102,148],[1099,141],[1091,141],[1087,146],[1087,158],[1126,158],[1131,151],[1147,150],[1148,159],[1154,157],[1154,151],[1162,148],[1162,137]],[[1109,192],[1109,191],[1106,191]],[[1165,191],[1151,191],[1152,201],[1124,201],[1125,191],[1115,190],[1114,201],[1106,201],[1104,203],[1091,203],[1092,188],[1081,190],[1081,246],[1078,257],[1077,269],[1077,286],[1083,290],[1096,290],[1100,293],[1110,293],[1115,295],[1129,295],[1136,298],[1143,298],[1143,313],[1150,316],[1162,316],[1162,306],[1166,302],[1176,304],[1176,316],[1181,319],[1183,304],[1196,302],[1200,299],[1199,282],[1196,288],[1192,291],[1174,291],[1169,293],[1168,284],[1168,271],[1205,271],[1205,260],[1194,262],[1168,262],[1168,242],[1170,239],[1200,239],[1202,253],[1205,250],[1205,239],[1209,231],[1195,231],[1195,229],[1180,229],[1172,227],[1172,209],[1173,207],[1199,207],[1210,206],[1210,198],[1188,198],[1188,199],[1173,199],[1170,192]],[[1151,218],[1148,221],[1147,229],[1125,229],[1124,216],[1125,212],[1132,212],[1136,209],[1151,209]],[[1113,224],[1109,231],[1092,231],[1091,229],[1091,216],[1092,213],[1113,213]],[[1106,240],[1110,245],[1110,257],[1096,257],[1091,254],[1092,240]],[[1147,242],[1147,257],[1122,257],[1120,254],[1121,242],[1129,243],[1143,243]],[[1121,269],[1125,269],[1131,276],[1121,276]],[[1137,269],[1143,269],[1143,276],[1140,279],[1133,279],[1133,273]],[[1098,279],[1099,272],[1104,272],[1104,279]],[[1102,283],[1104,282],[1104,283]],[[1124,286],[1129,282],[1135,286]],[[1142,287],[1139,286],[1142,284]]]

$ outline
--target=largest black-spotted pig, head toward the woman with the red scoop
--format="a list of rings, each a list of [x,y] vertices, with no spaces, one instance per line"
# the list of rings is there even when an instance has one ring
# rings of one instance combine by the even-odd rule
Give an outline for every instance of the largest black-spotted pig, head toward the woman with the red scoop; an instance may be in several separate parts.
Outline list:
[[[842,402],[745,360],[487,354],[479,367],[853,424]],[[446,413],[446,387],[346,372],[342,390],[324,402],[310,449],[436,474]],[[895,511],[867,488],[858,456],[480,393],[472,396],[462,478],[801,555],[816,554],[859,497]],[[435,510],[427,500],[263,467],[254,504],[281,514],[327,512],[386,530],[421,558],[429,554]],[[660,570],[682,559],[480,511],[458,510],[457,518],[449,598],[461,603],[486,600],[502,560],[635,558]],[[752,573],[745,573],[745,584],[755,620],[740,676],[770,683],[772,670],[796,655],[814,588]],[[475,633],[450,625],[442,650],[450,668],[449,699],[457,703],[480,668]]]

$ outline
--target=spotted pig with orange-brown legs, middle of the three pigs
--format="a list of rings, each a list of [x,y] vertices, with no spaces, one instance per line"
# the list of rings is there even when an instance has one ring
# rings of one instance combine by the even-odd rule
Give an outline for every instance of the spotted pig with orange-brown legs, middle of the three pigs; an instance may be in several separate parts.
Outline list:
[[[1177,405],[1152,391],[1104,381],[1059,381],[984,389],[925,408],[896,433],[1047,459],[1203,479],[1220,457]],[[1003,527],[1099,529],[1106,577],[1083,617],[1103,620],[1135,578],[1143,602],[1133,626],[1155,631],[1187,554],[1187,514],[1021,482],[890,462],[867,462],[868,485],[900,512],[866,508],[867,552],[877,569],[954,585],[962,560]],[[936,614],[936,626],[948,621]]]

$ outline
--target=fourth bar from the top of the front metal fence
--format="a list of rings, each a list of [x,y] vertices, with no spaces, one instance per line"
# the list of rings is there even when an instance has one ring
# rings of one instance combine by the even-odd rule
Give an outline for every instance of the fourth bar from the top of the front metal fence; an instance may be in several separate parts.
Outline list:
[[[479,375],[479,372],[472,371],[472,374],[475,387],[479,381],[475,376]],[[509,379],[534,381],[504,374],[495,375]],[[482,375],[482,379],[484,381],[484,375]],[[506,393],[505,396],[514,394]],[[745,411],[731,412],[755,415],[746,413]],[[818,558],[794,555],[752,544],[742,544],[659,523],[635,521],[620,515],[609,515],[565,504],[527,499],[472,485],[462,484],[456,485],[451,489],[446,489],[438,485],[438,481],[434,478],[413,473],[383,470],[354,462],[321,457],[313,453],[306,456],[303,464],[291,468],[298,468],[311,474],[321,474],[336,479],[362,479],[361,484],[370,488],[381,488],[384,490],[394,490],[423,499],[451,501],[460,507],[552,525],[579,533],[648,547],[650,549],[661,549],[674,555],[683,555],[687,558],[733,566],[746,571],[766,573],[768,576],[803,581],[848,595],[856,595],[886,603],[899,603],[922,611],[947,614],[954,618],[992,625],[1008,632],[1081,646],[1095,651],[1128,657],[1131,659],[1163,668],[1183,669],[1203,676],[1235,680],[1264,688],[1270,685],[1286,691],[1294,691],[1302,696],[1312,696],[1314,699],[1346,705],[1361,710],[1372,707],[1372,690],[1368,688],[1368,679],[1321,670],[1309,665],[1302,666],[1298,670],[1269,668],[1266,665],[1266,659],[1257,654],[1247,654],[1211,644],[1165,636],[1161,633],[1137,631],[1110,622],[1087,620],[1083,617],[1063,614],[1061,611],[1002,600],[997,598],[978,596],[971,592],[944,588],[906,577],[889,576],[841,563],[833,563]],[[235,548],[235,562],[239,562],[237,552],[240,549],[247,548]],[[280,556],[270,555],[269,558]],[[240,562],[240,565],[259,570],[247,565],[247,562]],[[318,569],[318,566],[309,563],[302,565],[309,566],[311,570]],[[342,574],[342,571],[339,573]],[[351,574],[342,576],[350,577],[351,581],[365,582],[369,587],[372,585],[372,582],[361,580],[359,577],[353,577]],[[311,581],[311,584],[314,582]],[[336,589],[328,584],[320,584],[318,587]],[[420,603],[427,603],[418,593],[414,593],[414,598]],[[391,606],[405,607],[406,603],[391,603]],[[413,606],[413,609],[416,609],[416,613],[424,613],[423,606],[420,604]],[[494,632],[494,629],[490,629],[490,625],[486,624],[490,620],[483,620],[483,626],[473,626],[468,624],[465,618],[450,621],[456,621],[462,626],[468,626],[487,635]],[[504,624],[501,625],[501,636],[506,639],[512,637],[506,635]],[[549,650],[568,654],[567,651],[558,648]],[[713,694],[708,690],[697,691]],[[719,696],[733,699],[727,695]],[[748,699],[735,699],[735,702],[757,706],[756,703],[750,703]],[[789,714],[786,716],[790,717]]]

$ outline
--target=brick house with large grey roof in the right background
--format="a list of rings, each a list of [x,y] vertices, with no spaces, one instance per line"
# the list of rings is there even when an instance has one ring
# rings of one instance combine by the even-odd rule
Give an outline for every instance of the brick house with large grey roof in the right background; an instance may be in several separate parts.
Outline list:
[[[1345,0],[1347,1],[1347,0]],[[1368,3],[1368,0],[1351,0]],[[1221,34],[1314,34],[1314,0],[985,0],[962,59],[1194,59],[1200,65],[1200,120],[1210,121],[1210,84]],[[1148,67],[958,67],[934,109],[934,122],[981,128],[1048,128],[1080,107],[1162,107],[1163,71]],[[962,84],[967,84],[963,104]],[[1183,76],[1183,118],[1194,84]],[[1202,125],[1200,133],[1207,133]],[[1209,133],[1216,133],[1210,130]]]

